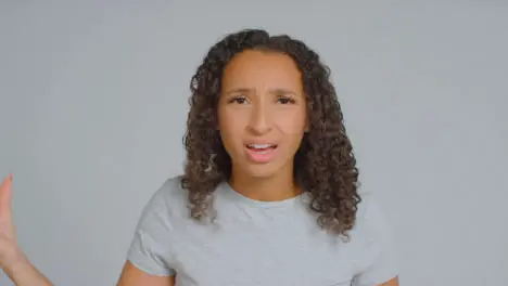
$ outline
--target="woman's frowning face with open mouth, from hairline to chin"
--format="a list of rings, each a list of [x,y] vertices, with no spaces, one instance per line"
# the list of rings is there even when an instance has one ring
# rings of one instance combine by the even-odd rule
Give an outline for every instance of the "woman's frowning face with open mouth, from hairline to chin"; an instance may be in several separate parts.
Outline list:
[[[301,73],[290,56],[244,51],[226,66],[218,129],[233,174],[266,178],[292,172],[306,122]]]

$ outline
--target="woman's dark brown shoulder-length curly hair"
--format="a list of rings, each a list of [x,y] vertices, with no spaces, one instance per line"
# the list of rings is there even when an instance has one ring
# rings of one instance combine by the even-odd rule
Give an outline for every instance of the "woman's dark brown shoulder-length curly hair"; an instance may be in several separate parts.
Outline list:
[[[215,213],[213,192],[229,180],[231,158],[217,130],[217,104],[223,70],[245,50],[280,52],[296,63],[307,96],[309,131],[294,157],[294,177],[310,195],[310,210],[323,230],[348,237],[361,198],[358,169],[346,135],[343,114],[330,80],[330,69],[304,42],[288,35],[270,36],[262,29],[244,29],[213,46],[191,79],[192,96],[183,143],[187,150],[181,186],[188,191],[191,217]],[[297,166],[297,167],[296,167]]]

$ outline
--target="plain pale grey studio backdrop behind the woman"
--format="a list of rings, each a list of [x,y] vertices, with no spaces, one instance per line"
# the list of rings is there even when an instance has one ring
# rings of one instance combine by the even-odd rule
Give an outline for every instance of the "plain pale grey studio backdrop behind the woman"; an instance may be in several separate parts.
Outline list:
[[[507,285],[500,0],[2,1],[0,174],[42,272],[116,283],[141,208],[182,171],[190,78],[244,27],[303,39],[331,67],[402,285]]]

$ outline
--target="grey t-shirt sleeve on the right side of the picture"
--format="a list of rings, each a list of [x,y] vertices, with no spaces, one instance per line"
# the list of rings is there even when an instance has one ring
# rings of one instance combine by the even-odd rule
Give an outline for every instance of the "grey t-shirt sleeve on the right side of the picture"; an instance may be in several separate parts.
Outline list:
[[[355,277],[354,286],[373,286],[398,275],[398,257],[393,246],[392,231],[381,206],[368,196],[361,223],[368,235],[365,246],[366,261]],[[363,204],[363,203],[360,203]]]

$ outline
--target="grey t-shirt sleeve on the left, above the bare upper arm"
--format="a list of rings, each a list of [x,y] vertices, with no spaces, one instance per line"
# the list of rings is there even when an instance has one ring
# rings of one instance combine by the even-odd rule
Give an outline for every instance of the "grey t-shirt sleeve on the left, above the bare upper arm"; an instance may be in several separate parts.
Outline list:
[[[170,266],[170,222],[164,185],[144,206],[138,221],[127,260],[139,270],[157,276],[176,274]],[[162,243],[164,242],[164,243]]]

